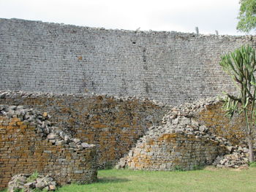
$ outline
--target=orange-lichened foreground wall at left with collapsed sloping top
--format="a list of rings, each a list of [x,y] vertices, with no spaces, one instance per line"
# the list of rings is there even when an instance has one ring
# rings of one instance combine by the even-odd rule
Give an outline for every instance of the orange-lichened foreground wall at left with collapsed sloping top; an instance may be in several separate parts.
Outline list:
[[[0,188],[15,174],[49,174],[59,185],[97,179],[94,145],[52,126],[47,112],[0,105]]]

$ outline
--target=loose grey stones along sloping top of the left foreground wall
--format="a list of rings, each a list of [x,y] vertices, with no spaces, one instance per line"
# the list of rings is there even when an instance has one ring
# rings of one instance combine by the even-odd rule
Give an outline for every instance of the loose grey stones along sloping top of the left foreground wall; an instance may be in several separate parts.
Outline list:
[[[23,106],[0,105],[0,115],[7,118],[19,118],[23,123],[29,123],[36,126],[37,134],[42,138],[49,139],[53,145],[64,145],[72,148],[94,147],[82,142],[81,139],[75,139],[69,134],[61,131],[60,128],[53,126],[50,122],[50,115],[47,112],[40,113],[37,110],[29,109]],[[8,122],[6,122],[8,123]]]

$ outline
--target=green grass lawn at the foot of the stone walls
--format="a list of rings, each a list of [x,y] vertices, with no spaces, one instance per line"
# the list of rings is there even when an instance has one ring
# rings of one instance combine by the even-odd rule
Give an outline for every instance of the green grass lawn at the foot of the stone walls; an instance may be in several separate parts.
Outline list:
[[[189,172],[100,170],[98,182],[66,185],[64,191],[256,191],[256,168],[246,170],[208,168]]]

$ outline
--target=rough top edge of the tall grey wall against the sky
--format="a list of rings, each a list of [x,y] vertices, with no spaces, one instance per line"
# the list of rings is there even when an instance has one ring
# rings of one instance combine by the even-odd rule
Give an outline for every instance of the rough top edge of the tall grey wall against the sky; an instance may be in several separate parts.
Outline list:
[[[71,24],[64,24],[64,23],[53,23],[53,22],[44,22],[42,20],[25,20],[25,19],[19,19],[19,18],[0,18],[0,23],[1,21],[6,20],[6,21],[13,21],[16,23],[40,23],[40,24],[47,24],[47,25],[52,25],[52,26],[59,26],[59,27],[72,27],[72,28],[80,28],[83,30],[88,30],[88,31],[112,31],[112,32],[122,32],[122,33],[134,33],[136,35],[165,35],[165,36],[186,36],[186,37],[217,37],[217,38],[223,38],[227,37],[230,39],[236,39],[236,38],[252,38],[256,37],[253,35],[216,35],[216,34],[195,34],[195,33],[184,33],[184,32],[178,32],[178,31],[133,31],[133,30],[127,30],[127,29],[106,29],[106,28],[94,28],[94,27],[89,27],[89,26],[76,26],[76,25],[71,25]]]

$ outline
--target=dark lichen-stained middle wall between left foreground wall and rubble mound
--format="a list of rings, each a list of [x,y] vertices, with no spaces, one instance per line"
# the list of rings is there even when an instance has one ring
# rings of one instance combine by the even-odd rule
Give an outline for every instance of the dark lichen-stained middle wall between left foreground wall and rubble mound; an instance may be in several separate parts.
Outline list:
[[[54,125],[96,145],[99,167],[116,164],[168,109],[148,99],[8,91],[0,91],[0,104],[47,111]]]

